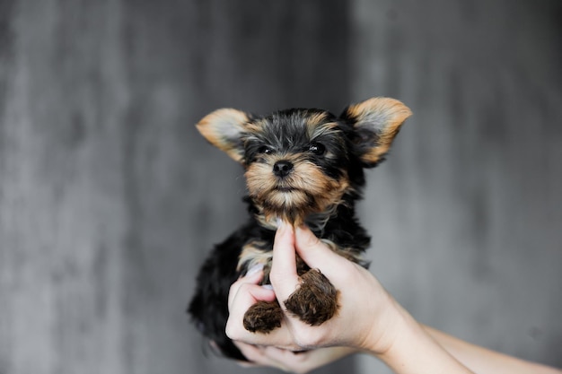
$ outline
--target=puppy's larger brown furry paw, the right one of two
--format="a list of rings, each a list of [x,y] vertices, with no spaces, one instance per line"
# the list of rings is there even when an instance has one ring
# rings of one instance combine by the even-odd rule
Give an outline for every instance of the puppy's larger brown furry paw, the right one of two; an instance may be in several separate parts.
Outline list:
[[[311,326],[334,317],[339,308],[336,287],[316,269],[304,273],[301,279],[298,290],[285,300],[285,308]]]

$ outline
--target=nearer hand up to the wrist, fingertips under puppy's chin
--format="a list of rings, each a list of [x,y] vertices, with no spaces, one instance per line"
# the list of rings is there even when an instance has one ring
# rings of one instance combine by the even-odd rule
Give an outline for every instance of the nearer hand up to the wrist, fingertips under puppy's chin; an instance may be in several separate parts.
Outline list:
[[[234,341],[273,345],[288,351],[347,346],[354,350],[384,352],[391,344],[391,328],[400,318],[400,308],[382,285],[360,265],[338,256],[305,227],[282,223],[277,230],[270,273],[273,289],[259,286],[262,274],[250,274],[231,287],[230,317],[226,334]],[[311,268],[318,268],[340,291],[339,310],[321,326],[309,326],[285,310],[280,328],[269,334],[253,334],[242,326],[245,311],[257,300],[284,301],[299,285],[295,252]]]

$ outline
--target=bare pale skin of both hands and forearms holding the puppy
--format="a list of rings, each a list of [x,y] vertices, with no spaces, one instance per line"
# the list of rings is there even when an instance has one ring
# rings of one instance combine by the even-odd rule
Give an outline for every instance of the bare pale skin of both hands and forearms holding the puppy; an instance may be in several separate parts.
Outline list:
[[[366,352],[398,374],[562,373],[417,323],[373,274],[333,253],[304,227],[280,224],[273,251],[273,289],[258,285],[263,272],[256,268],[233,283],[229,293],[226,334],[253,362],[250,365],[305,373],[348,354]],[[252,304],[277,298],[283,306],[283,301],[298,287],[295,253],[312,268],[321,269],[341,292],[338,315],[321,326],[308,326],[285,310],[283,325],[271,333],[246,331],[241,321]]]

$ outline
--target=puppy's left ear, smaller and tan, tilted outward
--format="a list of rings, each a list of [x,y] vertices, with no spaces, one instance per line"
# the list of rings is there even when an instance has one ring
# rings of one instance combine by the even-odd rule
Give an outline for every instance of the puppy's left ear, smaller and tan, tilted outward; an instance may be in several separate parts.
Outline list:
[[[249,122],[250,116],[243,111],[224,108],[206,115],[197,127],[209,143],[241,162],[244,154],[241,133]]]

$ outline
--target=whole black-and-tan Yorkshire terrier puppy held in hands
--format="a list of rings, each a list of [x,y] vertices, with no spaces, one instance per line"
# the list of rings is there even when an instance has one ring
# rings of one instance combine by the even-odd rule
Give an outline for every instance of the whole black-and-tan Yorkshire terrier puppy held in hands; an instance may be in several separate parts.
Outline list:
[[[253,265],[272,260],[278,220],[305,224],[339,255],[366,266],[370,237],[357,222],[355,203],[364,187],[364,169],[373,168],[411,115],[399,100],[373,98],[351,105],[336,117],[321,109],[287,109],[257,117],[218,109],[198,123],[206,140],[245,170],[250,219],[215,246],[197,278],[189,314],[222,354],[246,360],[225,335],[228,291]],[[338,290],[317,269],[297,258],[300,286],[285,308],[317,326],[338,313]],[[251,332],[281,326],[277,301],[259,301],[244,316]]]

